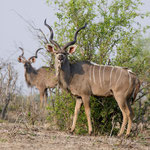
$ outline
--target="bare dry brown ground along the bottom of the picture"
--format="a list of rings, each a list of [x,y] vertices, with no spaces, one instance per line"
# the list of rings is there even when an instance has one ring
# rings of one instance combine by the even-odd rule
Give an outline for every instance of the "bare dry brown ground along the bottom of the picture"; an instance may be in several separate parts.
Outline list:
[[[148,134],[146,134],[148,135]],[[150,150],[150,137],[71,135],[46,126],[0,123],[0,150]]]

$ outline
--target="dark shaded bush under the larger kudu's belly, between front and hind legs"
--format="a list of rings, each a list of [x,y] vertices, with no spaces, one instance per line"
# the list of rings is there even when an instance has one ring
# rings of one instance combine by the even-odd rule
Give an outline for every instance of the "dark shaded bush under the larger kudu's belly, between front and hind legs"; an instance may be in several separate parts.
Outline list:
[[[117,133],[116,124],[121,123],[122,114],[114,98],[91,97],[91,115],[94,134],[110,134],[113,124],[113,134]]]

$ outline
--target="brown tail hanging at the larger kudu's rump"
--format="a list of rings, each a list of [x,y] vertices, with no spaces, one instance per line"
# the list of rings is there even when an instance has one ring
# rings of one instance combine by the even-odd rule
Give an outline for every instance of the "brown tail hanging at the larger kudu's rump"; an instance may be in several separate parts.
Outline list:
[[[136,96],[137,94],[139,93],[140,91],[140,86],[141,86],[141,83],[140,83],[140,80],[137,78],[136,81],[135,81],[135,88],[133,90],[133,93],[132,93],[132,104],[134,103],[135,99],[136,99]]]

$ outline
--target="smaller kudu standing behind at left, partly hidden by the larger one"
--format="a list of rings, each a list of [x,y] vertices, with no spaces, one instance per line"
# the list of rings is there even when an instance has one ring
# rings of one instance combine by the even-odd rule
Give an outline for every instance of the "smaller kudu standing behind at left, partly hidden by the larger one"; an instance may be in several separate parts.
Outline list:
[[[39,48],[35,56],[30,57],[28,60],[24,57],[23,48],[19,47],[22,54],[18,57],[18,61],[24,64],[25,69],[25,80],[28,86],[36,87],[40,92],[40,107],[43,107],[47,103],[47,89],[54,88],[57,84],[57,79],[55,77],[54,70],[49,67],[41,67],[35,69],[32,67],[32,63],[35,62],[37,58]]]

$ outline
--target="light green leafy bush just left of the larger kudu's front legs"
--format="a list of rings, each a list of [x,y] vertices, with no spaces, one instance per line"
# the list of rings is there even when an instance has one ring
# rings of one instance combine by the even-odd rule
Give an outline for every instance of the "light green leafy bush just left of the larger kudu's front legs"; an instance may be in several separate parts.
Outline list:
[[[57,93],[53,99],[55,99],[54,106],[49,105],[48,120],[61,130],[66,130],[71,125],[71,116],[73,116],[75,101],[70,94],[65,92]]]

